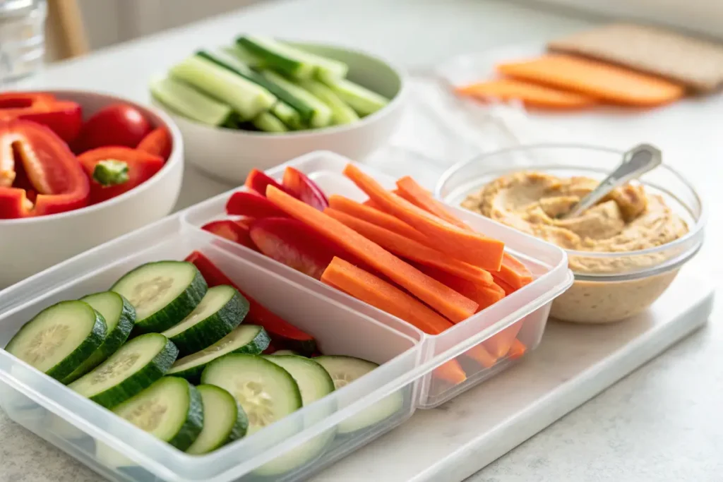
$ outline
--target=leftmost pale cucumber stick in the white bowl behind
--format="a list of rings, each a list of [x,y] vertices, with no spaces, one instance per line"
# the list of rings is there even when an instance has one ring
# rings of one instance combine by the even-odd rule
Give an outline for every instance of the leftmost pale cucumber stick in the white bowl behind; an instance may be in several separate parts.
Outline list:
[[[150,94],[174,113],[210,126],[223,126],[233,117],[234,109],[176,79],[151,80]]]

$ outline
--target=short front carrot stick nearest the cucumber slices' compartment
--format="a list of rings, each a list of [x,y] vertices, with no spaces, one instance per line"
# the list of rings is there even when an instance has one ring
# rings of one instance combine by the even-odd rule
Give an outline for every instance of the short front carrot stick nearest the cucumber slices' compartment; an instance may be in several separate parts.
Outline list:
[[[401,318],[430,335],[437,335],[452,326],[446,319],[400,289],[343,259],[332,259],[321,280],[322,283]],[[438,367],[435,374],[453,384],[466,379],[464,371],[456,361]]]

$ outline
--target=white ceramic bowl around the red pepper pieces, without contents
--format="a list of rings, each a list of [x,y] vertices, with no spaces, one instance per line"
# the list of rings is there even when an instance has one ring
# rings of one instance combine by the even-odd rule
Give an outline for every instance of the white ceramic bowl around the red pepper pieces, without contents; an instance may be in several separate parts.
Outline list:
[[[49,92],[80,103],[85,119],[111,103],[135,106],[154,127],[168,128],[174,142],[173,150],[166,165],[153,178],[106,202],[56,215],[0,220],[0,289],[163,218],[173,210],[181,189],[183,141],[178,127],[165,113],[98,92]]]

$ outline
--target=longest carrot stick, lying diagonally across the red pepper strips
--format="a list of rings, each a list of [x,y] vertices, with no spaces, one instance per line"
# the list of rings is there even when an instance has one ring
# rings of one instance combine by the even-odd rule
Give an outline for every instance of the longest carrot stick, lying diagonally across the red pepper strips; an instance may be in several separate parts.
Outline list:
[[[474,314],[477,304],[456,293],[437,280],[424,275],[378,244],[369,241],[351,228],[339,223],[304,202],[294,199],[283,191],[268,186],[266,197],[292,218],[306,223],[310,228],[336,241],[352,254],[356,254],[370,267],[389,277],[394,283],[412,293],[424,303],[439,311],[453,322],[461,322]]]

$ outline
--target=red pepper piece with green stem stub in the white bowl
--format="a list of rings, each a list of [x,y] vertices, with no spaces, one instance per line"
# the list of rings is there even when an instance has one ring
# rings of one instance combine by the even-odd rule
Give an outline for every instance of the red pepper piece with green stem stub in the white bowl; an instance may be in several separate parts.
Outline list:
[[[78,160],[90,178],[90,204],[120,196],[163,168],[163,158],[130,147],[98,147]]]

